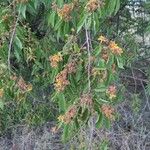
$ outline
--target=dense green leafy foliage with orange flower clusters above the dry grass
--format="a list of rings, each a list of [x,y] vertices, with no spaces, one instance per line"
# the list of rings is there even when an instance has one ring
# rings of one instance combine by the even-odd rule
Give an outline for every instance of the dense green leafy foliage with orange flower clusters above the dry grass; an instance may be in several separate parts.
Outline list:
[[[120,72],[138,62],[148,79],[149,7],[129,0],[1,0],[0,134],[51,120],[63,141],[95,119],[97,128],[108,128],[124,99]]]

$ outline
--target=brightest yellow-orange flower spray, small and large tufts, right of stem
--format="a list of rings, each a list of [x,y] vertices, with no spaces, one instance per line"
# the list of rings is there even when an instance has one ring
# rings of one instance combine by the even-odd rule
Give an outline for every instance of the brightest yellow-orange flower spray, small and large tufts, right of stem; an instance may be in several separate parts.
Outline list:
[[[100,36],[98,40],[100,43],[106,44],[114,55],[121,55],[123,53],[122,48],[120,48],[114,41],[109,41],[104,36]]]

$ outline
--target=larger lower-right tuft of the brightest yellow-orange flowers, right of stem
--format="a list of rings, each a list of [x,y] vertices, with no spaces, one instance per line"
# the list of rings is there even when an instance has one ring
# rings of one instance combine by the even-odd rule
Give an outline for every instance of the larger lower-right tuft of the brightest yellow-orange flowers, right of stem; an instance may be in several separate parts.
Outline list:
[[[123,53],[122,48],[120,48],[114,41],[110,41],[108,47],[111,49],[111,52],[115,55],[121,55]]]

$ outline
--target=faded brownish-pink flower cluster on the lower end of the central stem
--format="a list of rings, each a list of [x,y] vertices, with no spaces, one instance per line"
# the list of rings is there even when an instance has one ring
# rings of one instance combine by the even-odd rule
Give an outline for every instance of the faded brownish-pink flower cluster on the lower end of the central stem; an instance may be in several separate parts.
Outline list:
[[[86,105],[86,106],[91,106],[93,104],[93,100],[90,94],[83,94],[80,97],[80,104],[81,105]]]

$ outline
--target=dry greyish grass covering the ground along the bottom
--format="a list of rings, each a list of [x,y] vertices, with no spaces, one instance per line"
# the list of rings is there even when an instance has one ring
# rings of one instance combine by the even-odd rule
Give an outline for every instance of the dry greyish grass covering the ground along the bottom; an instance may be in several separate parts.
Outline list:
[[[18,126],[8,136],[1,137],[0,150],[100,150],[100,143],[104,140],[108,142],[109,150],[149,150],[149,97],[144,91],[141,93],[139,112],[133,111],[133,100],[127,93],[126,100],[117,106],[120,119],[110,130],[96,129],[92,119],[90,128],[83,127],[67,144],[62,144],[60,133],[50,131],[53,122],[37,129]]]

